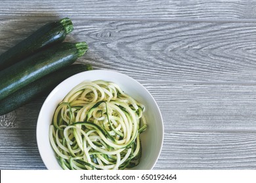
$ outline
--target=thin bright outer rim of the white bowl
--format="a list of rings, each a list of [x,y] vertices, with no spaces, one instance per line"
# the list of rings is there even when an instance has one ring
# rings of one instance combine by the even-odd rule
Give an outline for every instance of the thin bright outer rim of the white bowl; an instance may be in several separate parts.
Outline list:
[[[86,74],[85,74],[86,73]],[[137,84],[139,84],[139,86],[141,88],[143,88],[144,92],[146,92],[149,96],[150,96],[150,99],[152,100],[152,102],[154,103],[156,109],[158,110],[158,114],[159,114],[159,118],[161,119],[161,123],[160,123],[160,130],[161,130],[161,137],[160,137],[160,141],[161,141],[161,144],[159,144],[159,148],[158,148],[158,152],[157,152],[157,156],[156,156],[156,159],[154,159],[154,163],[152,163],[152,165],[150,166],[150,169],[153,169],[154,166],[156,165],[159,157],[160,157],[160,154],[161,154],[161,150],[163,148],[163,139],[164,139],[164,126],[163,126],[163,117],[161,115],[161,111],[160,111],[160,107],[158,106],[158,103],[156,102],[156,100],[154,99],[154,97],[152,96],[152,94],[150,92],[148,92],[148,90],[140,83],[138,82],[137,80],[135,80],[133,77],[131,76],[128,76],[128,75],[125,75],[121,72],[118,72],[118,71],[114,71],[114,70],[107,70],[107,69],[95,69],[95,70],[91,70],[91,71],[83,71],[81,73],[77,73],[73,76],[70,76],[68,78],[66,78],[65,80],[63,80],[62,82],[60,82],[60,84],[58,84],[56,87],[54,87],[54,89],[49,93],[49,95],[47,95],[47,98],[45,99],[45,101],[43,102],[43,105],[41,106],[41,109],[40,109],[40,112],[39,112],[39,115],[38,115],[38,118],[37,118],[37,126],[36,126],[36,141],[37,141],[37,148],[39,150],[39,154],[41,156],[41,159],[43,160],[43,163],[45,164],[45,167],[47,167],[47,169],[49,169],[49,163],[47,163],[48,161],[46,160],[45,158],[45,155],[43,154],[43,151],[42,151],[42,144],[41,144],[41,141],[39,141],[39,138],[41,138],[41,135],[39,133],[40,129],[40,119],[41,119],[41,116],[43,115],[43,108],[45,108],[46,104],[47,104],[47,101],[49,100],[49,98],[52,97],[52,95],[54,95],[54,93],[56,92],[56,90],[58,88],[61,88],[62,85],[64,85],[65,83],[67,83],[68,81],[72,80],[73,78],[75,77],[78,77],[80,75],[89,75],[90,73],[95,73],[95,74],[101,74],[102,73],[112,73],[114,75],[119,75],[119,76],[123,76],[129,80],[132,80],[133,82],[136,82]],[[78,83],[81,83],[83,81],[85,81],[86,79],[83,79],[81,80],[80,82]],[[88,79],[89,81],[92,81],[90,79]],[[95,79],[97,80],[97,79]],[[98,79],[98,80],[104,80],[104,79]],[[107,79],[106,79],[107,80]],[[76,84],[75,84],[76,86]],[[70,87],[70,90],[72,90],[73,87]],[[121,88],[122,89],[122,88]],[[70,91],[69,90],[69,91]],[[51,124],[51,123],[50,123]],[[47,134],[47,139],[49,140],[49,134]],[[51,144],[50,144],[51,146]],[[53,151],[54,152],[54,151]],[[56,157],[55,157],[56,158]]]

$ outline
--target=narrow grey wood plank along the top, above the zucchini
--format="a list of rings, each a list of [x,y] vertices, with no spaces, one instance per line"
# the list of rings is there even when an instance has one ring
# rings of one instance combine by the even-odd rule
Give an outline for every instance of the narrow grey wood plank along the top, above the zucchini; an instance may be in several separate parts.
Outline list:
[[[82,18],[255,18],[252,0],[144,0],[144,1],[8,1],[2,0],[0,16],[79,16]]]

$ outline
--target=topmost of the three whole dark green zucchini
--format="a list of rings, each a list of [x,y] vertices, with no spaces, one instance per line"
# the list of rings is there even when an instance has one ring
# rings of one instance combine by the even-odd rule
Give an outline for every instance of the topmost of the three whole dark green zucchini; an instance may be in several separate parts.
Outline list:
[[[19,42],[0,56],[0,71],[38,52],[42,48],[64,41],[74,29],[70,18],[43,25],[28,38]]]

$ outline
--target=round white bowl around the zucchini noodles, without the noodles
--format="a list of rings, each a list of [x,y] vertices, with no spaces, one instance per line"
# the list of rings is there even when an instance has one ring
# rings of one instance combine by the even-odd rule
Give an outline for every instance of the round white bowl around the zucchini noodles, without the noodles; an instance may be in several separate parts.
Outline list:
[[[160,156],[163,144],[163,120],[160,109],[152,95],[139,82],[127,75],[108,70],[85,71],[67,78],[54,88],[43,103],[37,120],[37,146],[47,169],[62,169],[49,142],[49,126],[52,122],[54,110],[72,88],[85,80],[114,82],[120,86],[123,92],[145,105],[148,128],[141,135],[142,157],[139,165],[134,169],[153,169]]]

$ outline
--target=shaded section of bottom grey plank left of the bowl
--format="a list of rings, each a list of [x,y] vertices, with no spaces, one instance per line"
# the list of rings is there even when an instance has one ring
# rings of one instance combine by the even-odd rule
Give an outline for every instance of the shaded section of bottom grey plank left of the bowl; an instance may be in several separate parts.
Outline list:
[[[0,169],[46,169],[37,149],[35,128],[0,128]]]

